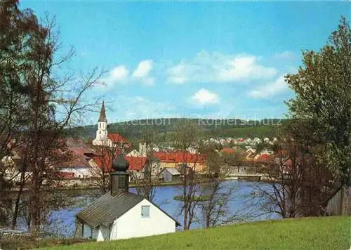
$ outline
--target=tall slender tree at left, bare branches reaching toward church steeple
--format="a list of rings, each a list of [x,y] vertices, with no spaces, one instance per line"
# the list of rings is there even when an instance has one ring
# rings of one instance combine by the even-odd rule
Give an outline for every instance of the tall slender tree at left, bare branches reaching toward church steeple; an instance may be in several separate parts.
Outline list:
[[[102,74],[93,70],[87,76],[81,75],[78,82],[70,78],[62,81],[54,79],[55,67],[71,56],[69,54],[58,61],[54,60],[53,56],[60,48],[54,27],[54,21],[39,26],[38,34],[32,40],[35,50],[31,53],[33,63],[27,81],[32,89],[29,98],[32,119],[28,124],[27,159],[33,169],[29,209],[34,227],[41,224],[41,187],[50,186],[52,166],[62,162],[60,151],[66,151],[64,129],[77,121],[82,112],[97,104],[85,103],[83,95],[98,83]]]

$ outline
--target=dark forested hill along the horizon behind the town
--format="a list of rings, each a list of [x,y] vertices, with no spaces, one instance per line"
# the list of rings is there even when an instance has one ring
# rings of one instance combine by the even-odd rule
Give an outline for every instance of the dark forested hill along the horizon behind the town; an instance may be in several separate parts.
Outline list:
[[[158,136],[167,140],[169,134],[174,131],[174,124],[182,120],[181,118],[161,118],[161,119],[140,119],[109,124],[110,132],[118,132],[128,140],[138,140],[146,129],[154,130]],[[242,119],[191,119],[204,130],[204,137],[269,137],[277,135],[277,129],[287,119],[262,119],[262,120],[242,120]],[[85,139],[95,138],[98,125],[80,126],[69,129],[69,136]]]

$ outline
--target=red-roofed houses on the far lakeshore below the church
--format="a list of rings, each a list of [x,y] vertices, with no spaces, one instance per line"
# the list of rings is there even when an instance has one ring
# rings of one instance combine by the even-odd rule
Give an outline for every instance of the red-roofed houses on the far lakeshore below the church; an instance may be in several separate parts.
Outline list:
[[[72,143],[75,140],[75,143]],[[109,155],[99,155],[94,152],[93,148],[84,144],[83,140],[70,139],[69,144],[73,154],[73,159],[70,162],[57,166],[60,176],[65,179],[77,178],[94,178],[97,176],[97,171],[110,172],[112,160],[114,157]],[[72,147],[74,145],[74,147]],[[151,157],[147,157],[143,153],[143,143],[140,143],[140,150],[131,150],[125,154],[125,159],[129,164],[128,172],[131,173],[131,178],[144,178],[144,173],[147,168],[147,161],[151,164],[152,176],[163,176],[161,174],[164,169],[180,175],[184,168],[190,168],[197,173],[206,171],[206,157],[204,154],[193,154],[191,152],[180,151],[159,151],[152,152]],[[149,164],[149,166],[150,166]],[[162,177],[163,178],[163,177]],[[168,178],[167,178],[168,179]]]

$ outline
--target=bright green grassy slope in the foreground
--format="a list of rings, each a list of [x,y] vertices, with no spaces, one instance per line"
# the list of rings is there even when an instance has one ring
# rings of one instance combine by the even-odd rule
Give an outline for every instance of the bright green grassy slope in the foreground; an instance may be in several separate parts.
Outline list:
[[[300,218],[227,225],[168,235],[51,249],[350,249],[350,217]]]

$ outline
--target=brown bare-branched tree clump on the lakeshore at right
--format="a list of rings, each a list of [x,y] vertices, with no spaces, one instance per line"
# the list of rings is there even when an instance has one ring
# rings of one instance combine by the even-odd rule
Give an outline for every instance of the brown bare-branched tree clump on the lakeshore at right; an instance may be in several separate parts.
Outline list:
[[[272,158],[261,163],[260,171],[268,182],[254,185],[254,190],[261,195],[256,202],[258,209],[263,214],[282,218],[323,216],[324,203],[335,183],[325,162],[315,157],[321,154],[321,147],[309,145],[307,137],[299,137],[306,129],[296,126],[296,121],[284,130],[289,133],[284,132],[284,139],[274,142]],[[296,133],[299,136],[294,136]]]

